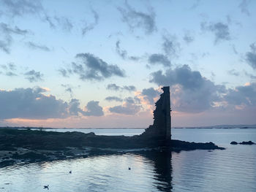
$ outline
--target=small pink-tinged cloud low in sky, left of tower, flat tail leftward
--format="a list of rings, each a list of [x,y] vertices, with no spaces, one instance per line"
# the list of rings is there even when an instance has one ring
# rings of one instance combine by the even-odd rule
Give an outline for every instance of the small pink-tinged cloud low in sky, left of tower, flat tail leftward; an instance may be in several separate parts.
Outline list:
[[[128,97],[124,100],[125,101],[122,105],[110,107],[109,111],[124,115],[135,115],[136,113],[140,112],[142,107],[140,104],[138,104],[139,99],[132,99],[132,97]]]

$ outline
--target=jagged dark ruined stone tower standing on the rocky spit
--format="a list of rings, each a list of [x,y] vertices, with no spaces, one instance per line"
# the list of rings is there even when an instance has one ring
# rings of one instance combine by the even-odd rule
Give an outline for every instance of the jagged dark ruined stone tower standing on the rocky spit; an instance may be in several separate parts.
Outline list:
[[[163,87],[160,99],[154,110],[154,123],[146,128],[142,136],[170,140],[170,87]]]

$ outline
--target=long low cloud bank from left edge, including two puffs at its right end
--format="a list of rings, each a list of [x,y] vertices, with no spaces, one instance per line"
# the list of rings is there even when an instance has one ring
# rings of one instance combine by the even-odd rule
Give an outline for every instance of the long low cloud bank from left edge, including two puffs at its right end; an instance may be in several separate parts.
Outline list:
[[[101,116],[104,115],[99,101],[89,101],[86,111],[80,109],[78,99],[69,103],[45,96],[44,88],[16,88],[13,91],[0,90],[0,118],[48,119],[68,118],[71,115]]]

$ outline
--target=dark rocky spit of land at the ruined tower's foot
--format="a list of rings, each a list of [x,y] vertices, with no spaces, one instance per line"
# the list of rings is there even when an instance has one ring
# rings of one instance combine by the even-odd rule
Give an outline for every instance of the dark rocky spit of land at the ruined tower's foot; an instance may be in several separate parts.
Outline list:
[[[99,136],[94,133],[0,129],[0,167],[39,161],[123,154],[138,150],[223,150],[212,142],[195,143],[141,136]]]

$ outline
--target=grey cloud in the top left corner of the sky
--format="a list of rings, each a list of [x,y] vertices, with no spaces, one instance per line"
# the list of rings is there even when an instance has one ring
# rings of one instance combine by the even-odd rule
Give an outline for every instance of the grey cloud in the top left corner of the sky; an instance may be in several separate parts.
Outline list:
[[[35,14],[42,11],[42,4],[38,0],[1,0],[1,8],[6,15],[12,17]]]

